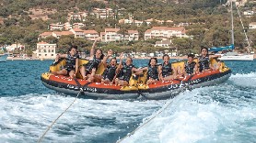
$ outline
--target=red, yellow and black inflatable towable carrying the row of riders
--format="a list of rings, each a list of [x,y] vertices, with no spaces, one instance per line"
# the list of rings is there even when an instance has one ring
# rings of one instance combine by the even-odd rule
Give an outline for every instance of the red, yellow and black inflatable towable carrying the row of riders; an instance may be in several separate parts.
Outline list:
[[[79,65],[87,63],[88,60],[79,60]],[[197,59],[195,59],[197,61]],[[172,62],[174,67],[184,67],[185,60]],[[215,59],[212,64],[217,64]],[[41,82],[47,88],[60,93],[77,94],[83,93],[84,96],[93,99],[166,99],[172,97],[185,89],[197,88],[202,86],[214,85],[225,82],[231,75],[231,70],[224,62],[221,62],[218,71],[206,71],[200,74],[179,77],[166,82],[156,82],[146,85],[146,72],[141,76],[132,76],[127,86],[106,84],[100,82],[87,82],[81,79],[78,73],[76,78],[64,75],[53,75],[52,71],[60,71],[65,65],[65,60],[59,60],[50,66],[50,71],[41,74]],[[102,74],[104,66],[99,65],[97,74]]]

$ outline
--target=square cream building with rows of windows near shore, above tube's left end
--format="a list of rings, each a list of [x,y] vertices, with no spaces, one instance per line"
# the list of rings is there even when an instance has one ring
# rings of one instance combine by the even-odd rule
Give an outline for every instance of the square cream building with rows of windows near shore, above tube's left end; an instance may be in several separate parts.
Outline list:
[[[39,42],[37,44],[36,55],[38,59],[52,60],[56,57],[56,44],[48,44],[46,42]]]

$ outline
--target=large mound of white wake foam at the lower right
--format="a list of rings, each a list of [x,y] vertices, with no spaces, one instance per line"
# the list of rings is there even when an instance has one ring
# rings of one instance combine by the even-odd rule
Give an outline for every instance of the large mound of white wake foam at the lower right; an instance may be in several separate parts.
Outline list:
[[[256,101],[248,104],[229,97],[228,100],[233,100],[230,103],[237,103],[220,103],[211,93],[207,94],[216,88],[204,87],[180,93],[164,112],[122,142],[230,142],[243,141],[247,137],[250,137],[249,142],[255,140],[252,135],[256,135],[256,123],[253,123]],[[225,97],[225,94],[218,96]]]

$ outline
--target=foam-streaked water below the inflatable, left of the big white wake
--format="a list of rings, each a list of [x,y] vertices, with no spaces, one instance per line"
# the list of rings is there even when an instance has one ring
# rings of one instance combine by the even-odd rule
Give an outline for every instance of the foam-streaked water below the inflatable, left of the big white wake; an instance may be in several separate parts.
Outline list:
[[[1,142],[36,142],[75,97],[29,94],[0,98]],[[109,134],[126,132],[134,121],[151,115],[161,101],[77,99],[44,137],[46,142],[94,142]],[[118,139],[118,137],[116,137]]]

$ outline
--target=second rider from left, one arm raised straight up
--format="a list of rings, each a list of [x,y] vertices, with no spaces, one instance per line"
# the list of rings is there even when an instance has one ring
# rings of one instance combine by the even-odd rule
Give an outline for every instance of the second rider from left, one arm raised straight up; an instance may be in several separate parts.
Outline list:
[[[90,49],[90,57],[88,57],[88,62],[86,64],[83,64],[80,68],[80,73],[84,80],[87,80],[88,82],[91,82],[94,80],[94,75],[91,75],[91,72],[93,69],[97,71],[99,64],[103,62],[104,54],[102,53],[101,49],[97,49],[95,52],[96,42],[99,41],[100,38],[97,38],[92,48]],[[95,52],[95,54],[94,54]]]

